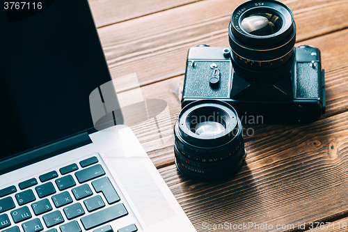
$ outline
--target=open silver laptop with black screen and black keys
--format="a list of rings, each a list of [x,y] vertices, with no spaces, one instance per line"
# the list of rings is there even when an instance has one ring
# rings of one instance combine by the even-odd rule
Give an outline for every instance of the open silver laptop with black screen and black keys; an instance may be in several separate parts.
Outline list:
[[[28,2],[0,8],[0,231],[196,231],[122,125],[88,2]]]

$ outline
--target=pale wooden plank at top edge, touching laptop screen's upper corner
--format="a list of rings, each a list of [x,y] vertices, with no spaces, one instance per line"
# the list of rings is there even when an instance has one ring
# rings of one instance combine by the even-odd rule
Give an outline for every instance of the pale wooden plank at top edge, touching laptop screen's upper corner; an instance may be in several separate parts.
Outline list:
[[[199,0],[89,0],[97,27],[176,8]]]

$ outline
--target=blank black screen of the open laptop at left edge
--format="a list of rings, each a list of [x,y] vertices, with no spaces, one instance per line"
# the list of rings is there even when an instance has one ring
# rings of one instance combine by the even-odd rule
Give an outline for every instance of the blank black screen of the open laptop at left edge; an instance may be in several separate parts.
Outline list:
[[[111,80],[88,2],[40,2],[0,8],[0,161],[93,130],[88,97]]]

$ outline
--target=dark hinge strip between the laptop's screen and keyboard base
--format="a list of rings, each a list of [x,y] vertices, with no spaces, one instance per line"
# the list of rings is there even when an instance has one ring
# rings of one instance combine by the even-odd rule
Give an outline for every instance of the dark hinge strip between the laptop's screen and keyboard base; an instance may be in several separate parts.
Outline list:
[[[10,157],[0,162],[0,175],[91,143],[88,133],[84,132],[27,153]]]

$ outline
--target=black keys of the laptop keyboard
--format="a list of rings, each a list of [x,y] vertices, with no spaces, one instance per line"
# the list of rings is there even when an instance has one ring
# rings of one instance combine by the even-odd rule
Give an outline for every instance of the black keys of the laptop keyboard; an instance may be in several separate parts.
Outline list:
[[[69,164],[57,170],[61,175],[49,171],[39,176],[39,180],[30,178],[0,190],[0,232],[59,232],[56,228],[61,232],[81,232],[103,224],[106,225],[93,232],[114,231],[107,223],[128,212],[98,162],[97,157],[89,157],[79,165]],[[28,189],[33,186],[34,191]],[[130,224],[117,230],[123,231],[138,229]]]

